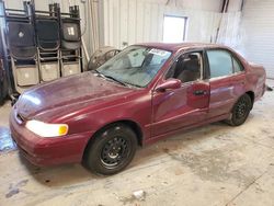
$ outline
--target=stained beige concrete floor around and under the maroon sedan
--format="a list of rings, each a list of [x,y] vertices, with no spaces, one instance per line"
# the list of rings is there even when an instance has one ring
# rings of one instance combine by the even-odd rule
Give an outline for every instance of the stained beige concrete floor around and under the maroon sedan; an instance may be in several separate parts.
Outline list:
[[[0,108],[2,131],[9,111],[8,103]],[[273,128],[274,92],[266,92],[244,125],[216,123],[175,135],[139,149],[124,172],[106,178],[80,164],[39,169],[5,147],[0,205],[271,206]],[[136,191],[144,191],[141,198],[133,195]]]

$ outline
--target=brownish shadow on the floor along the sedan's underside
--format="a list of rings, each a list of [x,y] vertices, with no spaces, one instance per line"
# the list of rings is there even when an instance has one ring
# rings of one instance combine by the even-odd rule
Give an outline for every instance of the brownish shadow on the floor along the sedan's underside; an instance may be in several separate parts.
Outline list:
[[[208,138],[208,135],[215,136],[220,129],[229,131],[231,127],[221,122],[214,123],[192,130],[179,133],[167,139],[159,140],[156,144],[139,148],[129,167],[123,172],[112,176],[95,175],[80,163],[39,168],[31,164],[24,157],[22,157],[22,154],[19,154],[19,159],[23,167],[25,167],[27,173],[43,185],[49,187],[66,187],[71,185],[81,186],[102,179],[107,181],[115,176],[123,178],[128,173],[153,167],[155,164],[158,164],[159,161],[164,162],[162,161],[162,158],[168,158],[167,152],[176,152],[178,150],[182,152],[185,145],[193,145],[197,140],[201,141],[204,138]],[[167,159],[167,161],[169,161],[169,159]]]

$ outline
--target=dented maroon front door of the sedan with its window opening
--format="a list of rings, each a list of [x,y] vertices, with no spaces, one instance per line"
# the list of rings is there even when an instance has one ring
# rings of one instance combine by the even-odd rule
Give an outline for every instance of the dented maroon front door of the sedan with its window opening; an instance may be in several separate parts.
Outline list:
[[[203,53],[183,54],[164,79],[182,81],[179,89],[155,91],[152,94],[152,137],[195,125],[205,119],[210,88],[203,80]],[[163,80],[164,81],[164,80]]]

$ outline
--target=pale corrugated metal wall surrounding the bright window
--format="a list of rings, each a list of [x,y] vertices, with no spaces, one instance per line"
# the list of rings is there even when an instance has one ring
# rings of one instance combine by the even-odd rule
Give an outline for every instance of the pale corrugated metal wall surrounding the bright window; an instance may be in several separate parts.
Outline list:
[[[167,1],[165,1],[167,2]],[[123,48],[140,42],[162,42],[163,16],[187,16],[187,42],[214,42],[220,24],[218,43],[238,45],[240,12],[219,13],[221,1],[208,1],[213,11],[204,11],[201,1],[190,4],[190,0],[165,5],[161,1],[145,0],[104,0],[104,44]],[[189,5],[192,5],[190,9]],[[195,8],[195,3],[198,9]],[[186,7],[186,8],[185,8]],[[215,10],[215,11],[214,11]]]

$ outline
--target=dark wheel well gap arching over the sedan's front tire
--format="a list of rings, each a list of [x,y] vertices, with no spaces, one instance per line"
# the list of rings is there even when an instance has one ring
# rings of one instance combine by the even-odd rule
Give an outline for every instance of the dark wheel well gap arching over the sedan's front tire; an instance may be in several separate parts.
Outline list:
[[[113,122],[113,123],[110,123],[105,126],[103,126],[102,128],[100,128],[99,130],[96,130],[92,137],[95,137],[96,134],[101,133],[102,130],[109,128],[109,127],[112,127],[113,125],[115,124],[124,124],[124,125],[127,125],[129,126],[134,133],[136,134],[137,136],[137,141],[138,141],[138,145],[139,146],[142,146],[142,131],[141,131],[141,128],[139,127],[139,125],[133,121],[117,121],[117,122]],[[84,148],[84,151],[83,151],[83,158],[85,157],[85,153],[87,153],[87,148],[94,141],[94,138],[90,138],[90,140],[88,141],[85,148]]]

